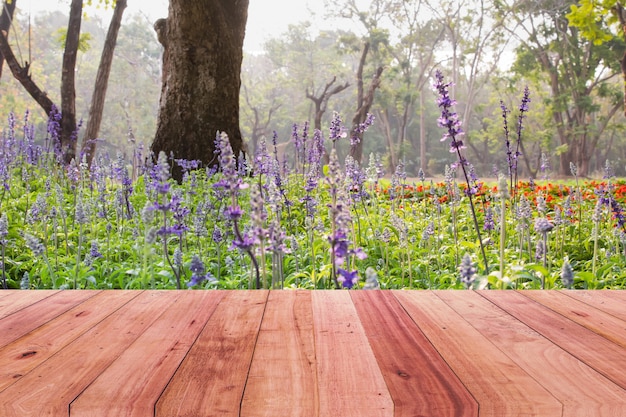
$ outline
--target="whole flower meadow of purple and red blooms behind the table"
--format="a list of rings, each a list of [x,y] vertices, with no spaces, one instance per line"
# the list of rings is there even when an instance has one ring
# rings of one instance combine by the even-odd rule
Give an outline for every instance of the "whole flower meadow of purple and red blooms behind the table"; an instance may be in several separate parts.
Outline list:
[[[385,173],[377,155],[363,168],[340,163],[337,143],[358,139],[337,114],[327,134],[294,125],[284,160],[276,136],[244,161],[218,135],[219,170],[141,147],[64,167],[58,120],[36,138],[28,114],[10,115],[0,144],[2,286],[624,288],[626,182],[610,163],[601,180],[578,178],[572,165],[568,181],[522,181],[507,137],[507,175],[480,181],[446,86],[440,124],[459,159],[439,181],[422,171],[410,179],[402,164]],[[520,125],[523,111],[524,102]],[[185,172],[181,183],[171,164]]]

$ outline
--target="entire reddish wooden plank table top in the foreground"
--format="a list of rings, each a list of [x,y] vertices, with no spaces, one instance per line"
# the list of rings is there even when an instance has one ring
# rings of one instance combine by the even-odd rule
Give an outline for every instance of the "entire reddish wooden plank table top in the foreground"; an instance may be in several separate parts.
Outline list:
[[[0,415],[68,414],[626,416],[626,292],[0,292]]]

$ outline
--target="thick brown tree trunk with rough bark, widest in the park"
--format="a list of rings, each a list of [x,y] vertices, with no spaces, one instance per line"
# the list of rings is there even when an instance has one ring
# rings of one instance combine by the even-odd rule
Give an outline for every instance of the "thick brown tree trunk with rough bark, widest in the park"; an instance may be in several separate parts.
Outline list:
[[[170,0],[167,74],[152,152],[217,164],[217,132],[242,150],[239,89],[248,0]],[[174,178],[180,180],[177,166]]]

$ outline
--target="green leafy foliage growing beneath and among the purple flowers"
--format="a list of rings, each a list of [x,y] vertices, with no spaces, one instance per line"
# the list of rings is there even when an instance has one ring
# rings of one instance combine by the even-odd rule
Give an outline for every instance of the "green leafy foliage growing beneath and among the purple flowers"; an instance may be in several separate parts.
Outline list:
[[[169,183],[169,191],[162,194],[154,188],[149,174],[138,176],[129,186],[124,178],[132,174],[133,168],[123,158],[101,156],[91,169],[74,165],[62,170],[56,166],[54,156],[45,151],[36,160],[16,151],[34,145],[28,136],[5,134],[3,138],[4,149],[8,150],[4,162],[9,170],[2,177],[5,184],[0,194],[0,213],[6,213],[8,220],[3,263],[11,288],[19,288],[25,272],[31,288],[175,288],[176,274],[168,257],[173,257],[174,248],[179,247],[183,256],[176,268],[180,268],[183,285],[191,278],[191,259],[198,255],[206,270],[216,277],[215,282],[203,282],[198,288],[249,288],[250,260],[231,245],[235,239],[232,224],[224,215],[229,199],[215,187],[223,179],[221,174],[194,171],[180,185]],[[6,159],[6,155],[13,156]],[[323,171],[326,177],[333,175],[327,166]],[[346,174],[346,181],[338,184],[347,197],[342,204],[350,212],[348,238],[368,256],[348,256],[348,268],[361,276],[367,268],[373,268],[381,288],[463,288],[458,267],[466,253],[479,264],[475,289],[562,288],[559,273],[566,257],[574,270],[573,288],[626,285],[622,272],[626,266],[626,234],[615,215],[615,206],[602,206],[595,220],[591,216],[598,194],[615,199],[618,206],[626,203],[624,182],[588,182],[580,186],[582,194],[574,192],[577,188],[572,182],[543,181],[534,186],[521,182],[519,193],[529,201],[541,197],[547,202],[546,211],[533,206],[532,218],[521,223],[514,214],[515,200],[507,200],[505,221],[500,226],[506,230],[502,252],[505,267],[503,271],[497,267],[485,271],[477,262],[480,246],[468,199],[462,189],[460,193],[451,191],[461,187],[454,176],[451,184],[434,182],[430,186],[396,180],[390,184],[376,178],[355,185],[350,178]],[[237,202],[244,213],[243,230],[253,225],[249,190],[259,185],[263,190],[268,187],[263,191],[267,216],[263,227],[276,221],[286,233],[281,270],[284,285],[289,288],[332,287],[329,237],[333,223],[328,206],[332,206],[333,197],[329,183],[322,177],[318,179],[320,185],[305,193],[307,178],[290,170],[282,178],[285,197],[293,202],[287,205],[282,199],[271,202],[265,194],[275,186],[273,177],[241,177],[246,186],[240,190]],[[318,211],[313,217],[307,215],[305,196],[317,202]],[[186,230],[180,235],[155,236],[155,230],[177,221],[156,203],[173,204],[170,201],[174,199],[188,209],[183,216]],[[497,189],[482,186],[476,200],[481,202],[478,217],[482,226],[485,208],[499,201]],[[80,204],[84,205],[83,220],[78,215]],[[568,211],[572,206],[580,210]],[[532,228],[532,221],[538,217],[550,218],[554,224],[546,236],[545,265],[535,253],[535,245],[544,239]],[[599,226],[597,245],[591,233],[594,221]],[[425,234],[428,227],[433,227],[432,234]],[[221,239],[214,238],[214,230],[220,230]],[[499,231],[490,228],[485,233],[489,263],[499,265],[499,247],[493,244],[499,241]],[[27,235],[41,243],[41,253],[35,254]],[[258,244],[254,251],[261,259]],[[270,274],[277,268],[271,258],[268,251],[264,266]],[[592,270],[594,259],[598,263]],[[361,280],[358,286],[363,285]]]

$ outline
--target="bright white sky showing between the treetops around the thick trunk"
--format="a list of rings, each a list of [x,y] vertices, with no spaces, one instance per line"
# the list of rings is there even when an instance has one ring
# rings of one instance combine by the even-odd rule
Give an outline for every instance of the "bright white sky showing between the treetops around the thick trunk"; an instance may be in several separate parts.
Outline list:
[[[18,0],[17,6],[24,12],[60,9],[67,13],[69,3],[69,0]],[[260,50],[264,41],[285,32],[290,23],[322,22],[320,4],[321,0],[250,0],[244,49],[250,52]],[[168,0],[128,0],[124,14],[142,12],[155,21],[167,16],[167,5]],[[317,16],[310,11],[313,5],[317,6]],[[88,13],[94,10],[93,7],[89,9],[86,9]]]

